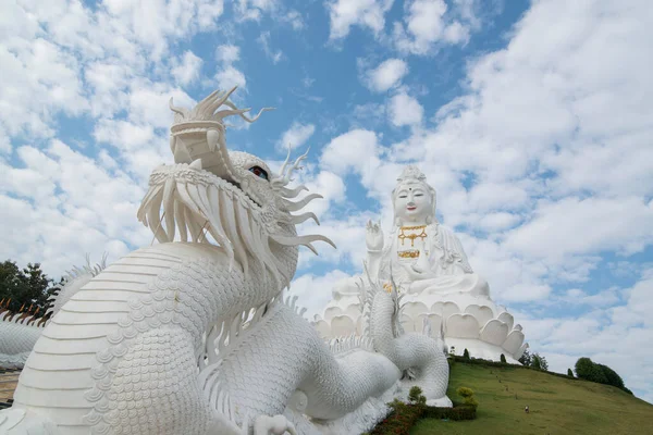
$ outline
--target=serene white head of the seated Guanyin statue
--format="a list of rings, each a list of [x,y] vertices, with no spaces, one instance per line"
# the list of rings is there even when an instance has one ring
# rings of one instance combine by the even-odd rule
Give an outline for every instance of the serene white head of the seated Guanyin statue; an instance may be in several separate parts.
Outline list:
[[[435,189],[416,165],[408,165],[392,191],[394,224],[430,224],[435,220]]]

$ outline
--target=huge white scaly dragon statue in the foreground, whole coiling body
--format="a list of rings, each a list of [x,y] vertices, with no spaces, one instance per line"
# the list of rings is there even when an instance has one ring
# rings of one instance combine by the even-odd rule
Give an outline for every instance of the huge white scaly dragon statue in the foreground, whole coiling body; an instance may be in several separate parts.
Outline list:
[[[291,200],[305,189],[288,184],[306,154],[272,175],[226,149],[223,119],[261,114],[237,109],[234,89],[190,111],[171,100],[175,164],[153,171],[138,211],[159,244],[63,304],[0,412],[0,434],[349,434],[415,383],[448,401],[445,356],[430,337],[401,334],[396,291],[367,288],[370,335],[335,352],[284,302],[298,246],[331,241],[295,229],[316,216],[291,212],[320,197]]]

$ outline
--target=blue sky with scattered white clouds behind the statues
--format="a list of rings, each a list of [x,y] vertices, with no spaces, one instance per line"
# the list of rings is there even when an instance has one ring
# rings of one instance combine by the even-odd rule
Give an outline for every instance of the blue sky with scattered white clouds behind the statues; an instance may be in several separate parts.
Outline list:
[[[591,357],[653,401],[653,16],[645,0],[3,2],[0,257],[59,276],[151,243],[168,99],[238,85],[227,144],[301,179],[338,250],[303,252],[317,312],[418,163],[438,215],[552,369]],[[306,229],[309,231],[308,228]]]

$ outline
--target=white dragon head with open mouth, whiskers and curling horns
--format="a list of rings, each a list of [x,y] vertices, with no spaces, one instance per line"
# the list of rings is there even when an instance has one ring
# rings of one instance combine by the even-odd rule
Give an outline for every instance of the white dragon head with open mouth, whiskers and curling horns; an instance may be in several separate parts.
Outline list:
[[[138,220],[149,226],[161,243],[214,243],[245,273],[251,261],[261,262],[283,285],[288,285],[294,268],[283,264],[279,247],[304,245],[317,253],[311,241],[333,243],[321,235],[297,236],[295,225],[313,213],[300,211],[320,195],[292,201],[305,186],[288,188],[292,174],[300,169],[306,153],[291,162],[289,151],[279,174],[256,156],[226,148],[226,116],[245,115],[229,100],[233,89],[214,91],[193,110],[176,108],[171,127],[170,146],[175,164],[157,167],[149,189],[138,210]],[[227,109],[219,110],[222,107]],[[161,214],[162,211],[162,214]],[[178,233],[177,233],[178,231]],[[276,249],[276,250],[275,250]],[[296,252],[296,251],[295,251]]]

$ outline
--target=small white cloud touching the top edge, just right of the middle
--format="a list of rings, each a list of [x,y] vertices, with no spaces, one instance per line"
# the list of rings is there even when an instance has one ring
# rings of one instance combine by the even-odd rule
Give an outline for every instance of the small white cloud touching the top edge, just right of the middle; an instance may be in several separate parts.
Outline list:
[[[326,3],[331,20],[330,40],[342,39],[352,26],[370,28],[375,35],[385,26],[385,13],[393,0],[333,0]]]

